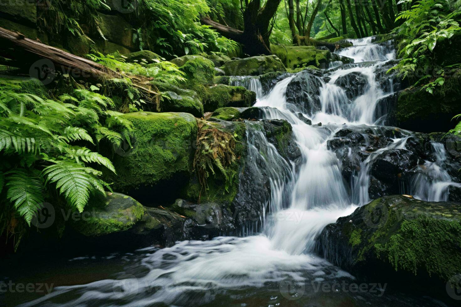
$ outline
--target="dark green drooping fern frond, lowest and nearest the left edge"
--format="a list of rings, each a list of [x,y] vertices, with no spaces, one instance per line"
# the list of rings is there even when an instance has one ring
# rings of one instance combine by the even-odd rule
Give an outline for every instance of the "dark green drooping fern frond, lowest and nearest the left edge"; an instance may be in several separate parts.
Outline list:
[[[6,197],[29,225],[44,201],[43,183],[35,173],[25,169],[6,172]]]

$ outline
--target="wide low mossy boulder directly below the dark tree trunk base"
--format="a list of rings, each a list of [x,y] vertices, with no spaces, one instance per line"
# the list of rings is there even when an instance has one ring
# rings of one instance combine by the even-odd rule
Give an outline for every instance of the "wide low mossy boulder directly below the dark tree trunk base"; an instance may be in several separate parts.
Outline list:
[[[275,55],[231,60],[220,68],[226,75],[264,75],[272,71],[286,71],[282,61]]]

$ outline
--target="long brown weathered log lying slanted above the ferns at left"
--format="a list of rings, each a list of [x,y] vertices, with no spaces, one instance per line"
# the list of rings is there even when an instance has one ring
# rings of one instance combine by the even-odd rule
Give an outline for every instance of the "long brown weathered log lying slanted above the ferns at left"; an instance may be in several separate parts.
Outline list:
[[[11,63],[20,63],[21,67],[41,70],[41,64],[37,61],[45,60],[51,65],[46,65],[47,74],[58,72],[69,74],[72,77],[84,78],[95,81],[105,81],[113,78],[130,77],[132,84],[146,96],[157,96],[156,88],[151,86],[151,79],[142,76],[125,75],[108,69],[106,66],[95,63],[89,59],[78,57],[61,49],[45,45],[40,41],[34,41],[23,34],[0,27],[0,56],[9,58]],[[76,78],[76,79],[77,79]],[[151,90],[147,87],[155,88]]]

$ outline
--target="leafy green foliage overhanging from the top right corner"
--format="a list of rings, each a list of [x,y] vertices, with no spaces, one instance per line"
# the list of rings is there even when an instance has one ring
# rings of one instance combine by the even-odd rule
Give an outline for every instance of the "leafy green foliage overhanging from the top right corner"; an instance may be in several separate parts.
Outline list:
[[[401,61],[392,69],[416,81],[415,86],[421,85],[429,93],[433,93],[434,87],[443,85],[446,71],[456,65],[438,65],[434,53],[437,43],[460,33],[461,11],[459,6],[452,9],[448,1],[420,0],[396,18],[396,21],[405,21],[394,30],[400,39],[398,55]]]

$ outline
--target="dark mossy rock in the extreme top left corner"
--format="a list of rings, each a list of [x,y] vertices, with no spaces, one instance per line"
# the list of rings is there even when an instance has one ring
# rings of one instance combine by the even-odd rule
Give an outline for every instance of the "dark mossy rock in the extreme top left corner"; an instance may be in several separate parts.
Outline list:
[[[20,23],[35,25],[37,22],[37,1],[35,0],[2,0],[0,12],[7,14],[9,19]]]

